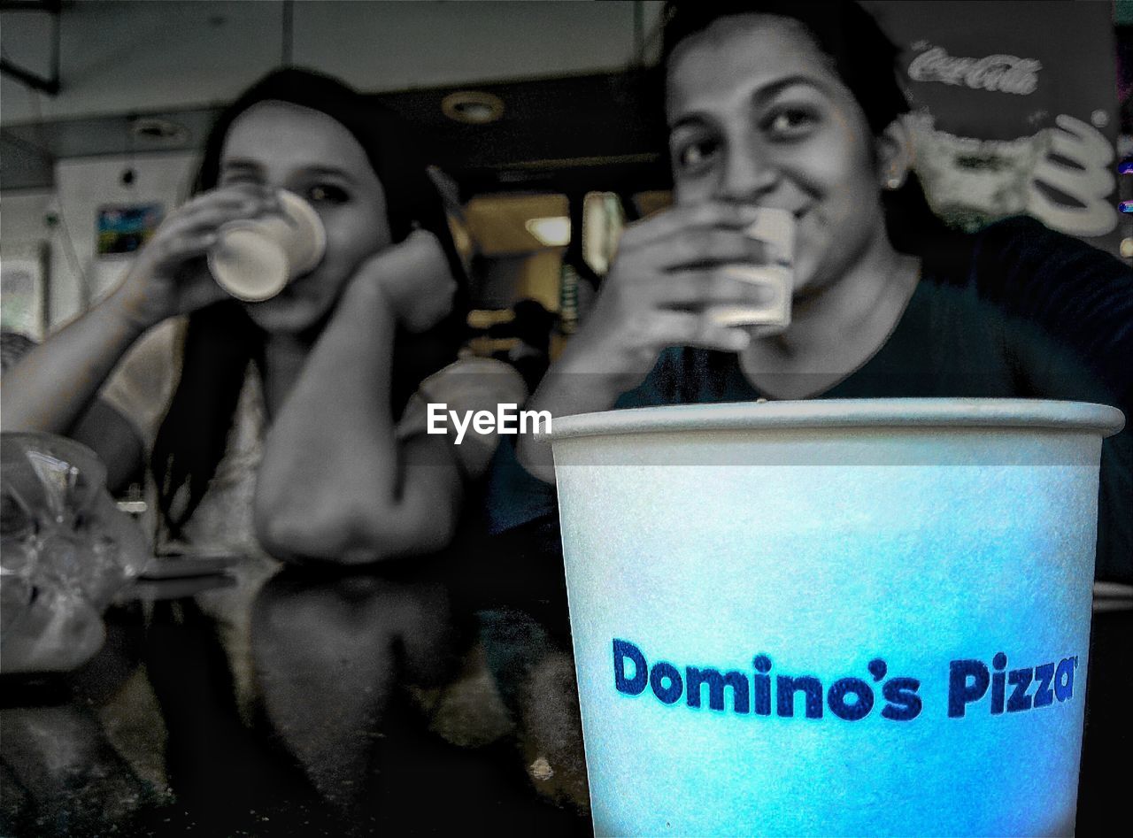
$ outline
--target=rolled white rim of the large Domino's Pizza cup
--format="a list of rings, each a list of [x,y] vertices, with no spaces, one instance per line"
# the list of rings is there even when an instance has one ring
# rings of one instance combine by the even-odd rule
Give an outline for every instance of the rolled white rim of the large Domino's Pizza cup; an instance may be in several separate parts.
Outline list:
[[[631,408],[556,418],[552,442],[697,430],[782,428],[1046,428],[1113,436],[1117,408],[1043,399],[819,399]]]

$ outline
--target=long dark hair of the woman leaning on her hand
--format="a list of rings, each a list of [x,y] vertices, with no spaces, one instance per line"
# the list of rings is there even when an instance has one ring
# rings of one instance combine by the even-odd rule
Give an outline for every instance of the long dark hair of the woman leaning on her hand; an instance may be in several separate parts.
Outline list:
[[[232,122],[265,101],[321,111],[349,130],[385,191],[393,241],[418,228],[428,230],[440,239],[457,277],[453,309],[442,323],[421,334],[399,330],[394,339],[391,408],[398,417],[420,382],[455,358],[468,314],[468,283],[421,143],[397,113],[341,82],[309,70],[276,70],[220,113],[205,142],[194,191],[216,186]],[[325,320],[312,332],[317,334],[324,325]],[[235,300],[189,316],[180,382],[152,459],[160,507],[173,535],[196,510],[224,455],[245,374],[249,362],[262,369],[265,342],[266,334]]]

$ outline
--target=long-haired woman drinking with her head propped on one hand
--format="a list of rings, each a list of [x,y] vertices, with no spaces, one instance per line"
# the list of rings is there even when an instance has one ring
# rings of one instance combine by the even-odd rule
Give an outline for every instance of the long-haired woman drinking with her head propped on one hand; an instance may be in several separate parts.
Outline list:
[[[257,224],[278,239],[306,225],[308,264],[274,296],[233,299],[206,263],[239,274],[223,239]],[[6,375],[3,428],[71,433],[101,390],[122,421],[88,442],[118,472],[148,462],[162,542],[343,563],[434,551],[493,441],[458,450],[426,435],[424,402],[494,409],[523,392],[502,365],[478,390],[468,364],[446,367],[460,276],[401,121],[333,79],[281,70],[221,114],[195,197],[121,284]]]

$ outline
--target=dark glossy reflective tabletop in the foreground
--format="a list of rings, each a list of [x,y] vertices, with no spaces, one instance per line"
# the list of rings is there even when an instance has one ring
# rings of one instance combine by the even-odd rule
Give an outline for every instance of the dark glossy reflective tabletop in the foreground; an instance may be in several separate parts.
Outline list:
[[[288,571],[134,593],[80,670],[0,682],[0,833],[589,833],[525,769],[538,743],[522,728],[560,721],[522,718],[506,684],[493,687],[496,707],[526,725],[466,718],[463,734],[438,735],[438,685],[485,684],[468,653],[483,648],[483,623],[436,576]],[[533,624],[513,631],[519,613],[496,613],[496,639],[522,635],[536,657],[552,648],[531,645]],[[1079,836],[1128,818],[1131,694],[1133,599],[1100,591]],[[449,704],[458,721],[475,716]],[[476,746],[453,744],[461,736]]]

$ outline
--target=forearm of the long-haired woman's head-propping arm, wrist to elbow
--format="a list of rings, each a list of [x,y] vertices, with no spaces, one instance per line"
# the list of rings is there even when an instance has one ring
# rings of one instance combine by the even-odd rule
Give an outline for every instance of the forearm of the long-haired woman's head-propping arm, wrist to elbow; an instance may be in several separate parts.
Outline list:
[[[373,545],[380,558],[403,540],[404,463],[390,408],[395,328],[376,284],[353,283],[312,350],[259,468],[256,525],[269,551],[358,555],[360,541],[384,533],[390,544]]]

